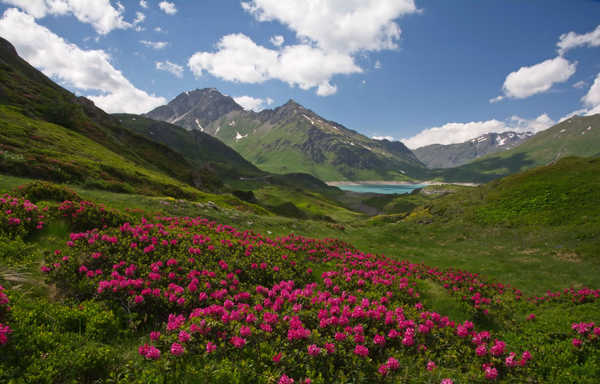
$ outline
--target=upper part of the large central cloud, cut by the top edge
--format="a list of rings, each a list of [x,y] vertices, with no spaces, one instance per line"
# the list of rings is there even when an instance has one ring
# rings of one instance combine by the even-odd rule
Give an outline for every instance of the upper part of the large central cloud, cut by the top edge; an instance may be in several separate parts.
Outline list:
[[[394,49],[398,17],[418,12],[414,0],[251,0],[244,10],[258,21],[278,21],[301,40],[353,53]]]

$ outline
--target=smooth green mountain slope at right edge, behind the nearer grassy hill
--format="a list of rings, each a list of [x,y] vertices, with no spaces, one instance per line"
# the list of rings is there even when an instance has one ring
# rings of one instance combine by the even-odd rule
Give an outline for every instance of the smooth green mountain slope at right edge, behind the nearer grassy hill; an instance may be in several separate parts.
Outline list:
[[[597,156],[600,148],[600,114],[574,116],[537,133],[521,145],[496,152],[460,167],[435,170],[447,181],[489,181],[567,156]]]

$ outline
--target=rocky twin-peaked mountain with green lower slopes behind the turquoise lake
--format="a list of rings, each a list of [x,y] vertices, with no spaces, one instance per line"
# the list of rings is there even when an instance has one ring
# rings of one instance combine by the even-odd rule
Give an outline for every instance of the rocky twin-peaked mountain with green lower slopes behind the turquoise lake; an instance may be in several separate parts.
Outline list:
[[[211,88],[183,93],[146,116],[217,137],[267,172],[322,180],[408,180],[426,172],[404,144],[370,139],[293,100],[256,113]]]

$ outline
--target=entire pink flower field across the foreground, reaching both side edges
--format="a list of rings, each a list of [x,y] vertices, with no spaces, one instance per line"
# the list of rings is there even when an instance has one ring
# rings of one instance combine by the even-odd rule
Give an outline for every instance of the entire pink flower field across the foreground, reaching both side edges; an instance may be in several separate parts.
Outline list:
[[[476,273],[337,239],[269,238],[202,218],[137,220],[85,201],[40,209],[5,195],[0,203],[0,230],[11,236],[41,230],[47,217],[76,229],[41,271],[65,311],[100,316],[101,305],[115,317],[94,331],[130,341],[112,382],[592,383],[600,375],[597,318],[535,314],[557,306],[597,315],[600,290],[525,297]],[[431,285],[469,319],[429,308]],[[17,353],[5,291],[0,348]]]

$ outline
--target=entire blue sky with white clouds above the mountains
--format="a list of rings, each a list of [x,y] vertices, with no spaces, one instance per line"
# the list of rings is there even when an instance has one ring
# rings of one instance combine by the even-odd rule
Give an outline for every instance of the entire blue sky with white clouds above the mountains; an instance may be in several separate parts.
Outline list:
[[[0,0],[0,36],[107,112],[217,88],[409,148],[600,113],[599,0]]]

